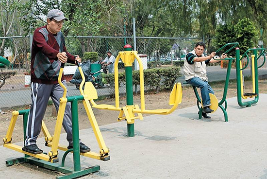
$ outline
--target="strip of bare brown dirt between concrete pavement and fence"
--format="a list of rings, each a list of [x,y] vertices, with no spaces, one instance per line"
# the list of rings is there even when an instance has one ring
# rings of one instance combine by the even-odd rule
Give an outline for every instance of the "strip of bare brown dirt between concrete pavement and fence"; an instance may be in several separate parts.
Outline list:
[[[218,100],[221,99],[224,90],[224,84],[213,84],[211,83],[215,91],[215,95],[217,96]],[[245,82],[245,90],[244,92],[251,92],[252,91],[252,82],[246,81]],[[260,93],[267,93],[267,80],[260,80],[259,81],[259,91]],[[146,109],[156,109],[156,108],[170,108],[168,105],[170,91],[160,92],[160,93],[147,93],[145,95],[145,102],[146,102]],[[227,98],[235,97],[236,96],[236,83],[230,82],[229,88],[227,92]],[[259,99],[260,100],[260,99]],[[126,97],[120,98],[120,106],[125,106]],[[110,104],[115,105],[115,99],[104,99],[101,101],[97,101],[97,104]],[[140,106],[140,96],[134,95],[134,104],[138,104]],[[236,103],[236,105],[238,105]],[[196,97],[194,91],[191,86],[183,87],[183,98],[182,103],[178,106],[178,108],[185,108],[196,106]],[[29,107],[28,107],[29,108]],[[44,118],[44,122],[47,125],[50,134],[53,135],[54,126],[56,123],[56,117],[53,117],[52,114],[54,106],[48,106]],[[24,109],[24,108],[17,108],[14,107],[13,109],[6,109],[3,110],[6,112],[5,114],[0,114],[0,137],[1,139],[6,135],[8,126],[11,121],[12,111]],[[111,111],[111,110],[100,110],[93,108],[95,117],[99,125],[107,125],[111,123],[117,123],[118,111]],[[198,112],[198,108],[196,107],[196,116]],[[144,114],[144,116],[148,116],[149,114]],[[125,122],[124,122],[125,123]],[[91,127],[86,112],[84,110],[83,104],[79,104],[79,125],[80,129],[89,128]],[[62,129],[62,133],[64,133],[64,129]],[[43,137],[41,133],[39,137]],[[13,143],[23,141],[23,124],[22,124],[22,116],[19,116],[17,119],[17,123],[15,125],[15,129],[12,135]],[[3,144],[2,140],[0,144]]]

